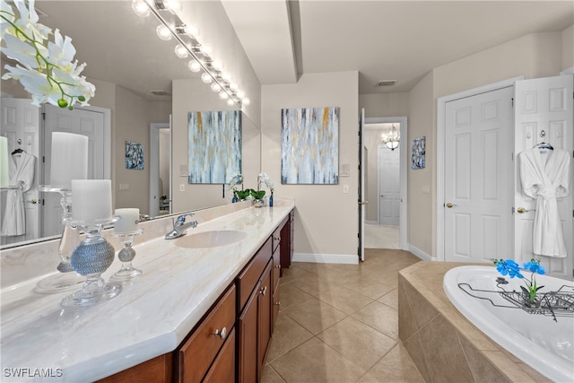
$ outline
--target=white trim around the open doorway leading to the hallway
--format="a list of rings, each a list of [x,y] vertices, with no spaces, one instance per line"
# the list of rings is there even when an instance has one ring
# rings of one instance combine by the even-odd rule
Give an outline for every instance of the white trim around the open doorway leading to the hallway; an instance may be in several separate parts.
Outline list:
[[[408,233],[408,184],[407,184],[407,170],[408,170],[408,122],[406,117],[389,117],[389,118],[365,118],[365,126],[368,124],[383,124],[383,123],[396,123],[400,124],[399,134],[401,136],[401,145],[403,150],[401,150],[401,164],[400,164],[400,184],[401,184],[401,207],[400,207],[400,217],[398,225],[398,247],[406,250],[408,248],[407,244],[407,233]],[[405,145],[406,143],[406,145]],[[405,149],[405,150],[404,150]],[[364,245],[364,244],[363,244]]]

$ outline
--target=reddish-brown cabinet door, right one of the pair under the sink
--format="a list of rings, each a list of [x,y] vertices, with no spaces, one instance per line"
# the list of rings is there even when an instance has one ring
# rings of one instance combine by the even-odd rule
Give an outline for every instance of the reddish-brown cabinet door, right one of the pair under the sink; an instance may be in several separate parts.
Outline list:
[[[272,267],[273,262],[269,262],[265,268],[265,272],[261,277],[261,283],[259,286],[259,304],[258,304],[258,315],[259,315],[259,339],[258,344],[258,354],[257,354],[257,365],[258,365],[258,375],[257,377],[261,379],[261,374],[263,373],[263,367],[265,365],[265,357],[267,355],[267,349],[269,346],[269,341],[271,339],[271,320],[272,320],[272,309],[273,309],[273,286],[272,282]]]

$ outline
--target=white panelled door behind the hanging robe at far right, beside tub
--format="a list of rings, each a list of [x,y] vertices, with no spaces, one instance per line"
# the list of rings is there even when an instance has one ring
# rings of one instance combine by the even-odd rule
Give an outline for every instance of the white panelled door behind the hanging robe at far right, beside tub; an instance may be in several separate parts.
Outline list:
[[[536,144],[551,144],[554,150],[574,149],[572,138],[572,76],[564,75],[516,83],[516,133],[515,152],[532,149]],[[526,262],[534,257],[532,252],[532,231],[535,217],[535,200],[522,193],[519,161],[515,178],[515,257]],[[570,156],[571,162],[571,156]],[[572,169],[570,163],[570,169]],[[571,174],[571,173],[570,173]],[[566,241],[568,257],[539,257],[549,273],[572,277],[572,181],[570,194],[558,200],[562,230]],[[526,210],[525,213],[523,210]]]

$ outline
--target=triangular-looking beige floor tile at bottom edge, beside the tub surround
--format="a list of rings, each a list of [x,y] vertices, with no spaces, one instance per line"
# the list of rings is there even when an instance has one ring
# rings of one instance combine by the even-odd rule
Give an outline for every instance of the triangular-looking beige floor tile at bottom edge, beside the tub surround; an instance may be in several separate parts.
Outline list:
[[[360,380],[360,383],[424,382],[413,360],[400,342],[378,361]]]

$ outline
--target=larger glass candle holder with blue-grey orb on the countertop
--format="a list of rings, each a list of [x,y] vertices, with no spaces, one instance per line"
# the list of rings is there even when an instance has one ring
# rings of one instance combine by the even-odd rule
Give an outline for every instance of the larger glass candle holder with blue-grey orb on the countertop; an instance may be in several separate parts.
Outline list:
[[[86,224],[74,222],[86,233],[86,238],[74,249],[70,263],[74,271],[86,277],[82,290],[66,295],[61,304],[64,307],[92,306],[117,297],[122,291],[119,283],[106,283],[101,274],[114,261],[116,250],[101,237],[104,224],[113,220]]]

